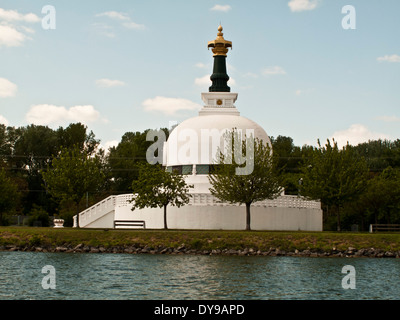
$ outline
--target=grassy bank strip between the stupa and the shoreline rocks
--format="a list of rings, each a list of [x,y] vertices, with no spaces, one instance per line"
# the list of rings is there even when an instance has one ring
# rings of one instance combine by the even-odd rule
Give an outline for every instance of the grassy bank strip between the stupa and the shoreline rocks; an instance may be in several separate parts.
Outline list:
[[[0,246],[20,247],[145,247],[177,248],[184,244],[195,250],[267,251],[271,247],[284,251],[311,250],[329,252],[353,247],[400,250],[399,233],[347,232],[267,232],[267,231],[193,231],[193,230],[91,230],[72,228],[0,227]]]

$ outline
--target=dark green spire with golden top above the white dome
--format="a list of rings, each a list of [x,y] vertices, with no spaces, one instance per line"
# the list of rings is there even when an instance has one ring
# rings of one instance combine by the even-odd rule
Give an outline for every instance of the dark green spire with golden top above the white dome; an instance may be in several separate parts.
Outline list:
[[[208,48],[212,48],[214,53],[214,68],[210,77],[212,86],[209,88],[209,92],[231,91],[228,86],[229,76],[226,72],[226,54],[228,48],[232,48],[232,42],[224,39],[222,30],[222,26],[219,26],[217,38],[208,42]]]

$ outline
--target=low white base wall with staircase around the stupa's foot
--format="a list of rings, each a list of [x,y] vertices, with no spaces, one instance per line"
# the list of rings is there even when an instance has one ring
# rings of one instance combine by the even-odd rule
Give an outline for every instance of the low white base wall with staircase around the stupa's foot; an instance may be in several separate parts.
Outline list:
[[[113,228],[114,220],[145,221],[148,229],[164,227],[163,208],[131,210],[131,194],[109,197],[80,215],[80,226]],[[243,230],[246,227],[244,205],[221,203],[210,194],[192,194],[190,203],[167,208],[170,229]],[[322,231],[320,202],[296,196],[280,196],[251,206],[253,230]]]

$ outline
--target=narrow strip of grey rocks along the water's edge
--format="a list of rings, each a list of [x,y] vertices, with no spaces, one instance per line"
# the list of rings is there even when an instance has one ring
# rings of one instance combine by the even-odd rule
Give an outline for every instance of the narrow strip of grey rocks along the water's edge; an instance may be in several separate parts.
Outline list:
[[[266,251],[255,250],[253,248],[244,248],[243,250],[234,249],[214,249],[202,250],[186,247],[184,244],[176,248],[157,246],[155,248],[144,246],[88,246],[78,244],[72,246],[64,244],[62,246],[18,246],[5,245],[0,246],[0,251],[25,251],[25,252],[65,252],[65,253],[126,253],[126,254],[172,254],[172,255],[224,255],[224,256],[295,256],[295,257],[367,257],[367,258],[400,258],[400,251],[385,251],[382,249],[364,248],[356,249],[348,247],[346,250],[337,250],[332,248],[330,251],[305,249],[294,251],[285,251],[279,248],[269,248]]]

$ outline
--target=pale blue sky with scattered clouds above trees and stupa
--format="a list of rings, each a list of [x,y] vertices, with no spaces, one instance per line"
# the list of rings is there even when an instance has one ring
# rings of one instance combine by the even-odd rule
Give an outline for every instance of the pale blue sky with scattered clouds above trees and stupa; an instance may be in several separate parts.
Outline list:
[[[0,122],[81,121],[108,146],[196,116],[221,22],[236,107],[268,135],[399,139],[399,12],[398,0],[3,0]]]

